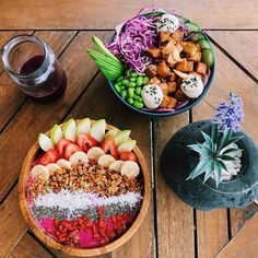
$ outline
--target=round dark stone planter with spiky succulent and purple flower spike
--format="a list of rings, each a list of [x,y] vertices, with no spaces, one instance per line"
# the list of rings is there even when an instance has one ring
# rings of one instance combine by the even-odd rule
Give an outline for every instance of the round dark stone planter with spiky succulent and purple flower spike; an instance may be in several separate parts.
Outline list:
[[[180,129],[167,143],[162,171],[169,187],[188,204],[210,210],[246,207],[258,197],[258,150],[241,129],[243,102],[230,94],[213,120]]]

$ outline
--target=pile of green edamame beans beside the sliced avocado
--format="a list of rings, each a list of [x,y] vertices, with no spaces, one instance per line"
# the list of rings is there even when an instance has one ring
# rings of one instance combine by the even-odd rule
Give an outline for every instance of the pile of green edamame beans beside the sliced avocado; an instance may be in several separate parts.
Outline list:
[[[115,90],[120,96],[136,108],[144,106],[141,97],[141,89],[149,82],[146,75],[140,75],[137,72],[126,71],[125,75],[115,81]]]

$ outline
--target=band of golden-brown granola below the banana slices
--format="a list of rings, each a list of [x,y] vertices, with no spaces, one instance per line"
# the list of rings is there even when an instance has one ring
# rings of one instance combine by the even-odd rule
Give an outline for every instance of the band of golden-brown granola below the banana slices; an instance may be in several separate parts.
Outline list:
[[[78,164],[72,169],[61,168],[50,173],[49,179],[44,181],[34,179],[28,194],[32,199],[44,195],[48,190],[58,194],[61,189],[86,192],[97,192],[101,197],[119,196],[126,191],[141,191],[141,184],[137,178],[122,176],[120,173],[103,168],[97,164]]]

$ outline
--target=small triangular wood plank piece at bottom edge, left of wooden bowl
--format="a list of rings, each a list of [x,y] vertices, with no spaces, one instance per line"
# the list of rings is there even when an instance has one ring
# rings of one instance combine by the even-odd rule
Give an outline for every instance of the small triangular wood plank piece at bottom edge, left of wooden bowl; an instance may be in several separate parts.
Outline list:
[[[23,235],[8,258],[52,258],[31,235]]]

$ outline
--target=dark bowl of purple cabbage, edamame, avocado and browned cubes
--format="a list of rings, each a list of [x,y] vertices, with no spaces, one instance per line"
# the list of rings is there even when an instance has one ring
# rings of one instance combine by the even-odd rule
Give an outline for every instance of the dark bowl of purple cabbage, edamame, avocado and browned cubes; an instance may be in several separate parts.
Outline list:
[[[149,116],[171,116],[195,106],[209,91],[214,52],[191,21],[160,9],[143,9],[116,26],[101,52],[87,49],[116,96]]]

